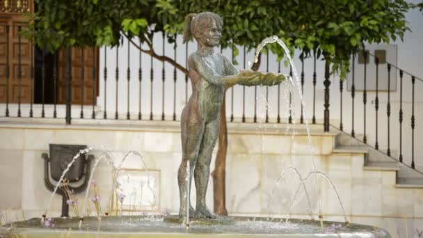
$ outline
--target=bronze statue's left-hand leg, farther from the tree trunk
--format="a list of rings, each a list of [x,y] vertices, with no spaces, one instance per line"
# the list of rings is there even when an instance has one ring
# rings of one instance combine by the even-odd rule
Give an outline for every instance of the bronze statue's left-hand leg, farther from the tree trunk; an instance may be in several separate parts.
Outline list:
[[[185,119],[186,118],[186,119]],[[184,120],[185,119],[185,120]],[[181,138],[182,138],[182,161],[179,166],[177,173],[177,182],[179,185],[179,216],[186,216],[186,161],[189,160],[189,184],[191,184],[193,171],[195,168],[196,161],[198,159],[198,152],[200,150],[202,134],[205,130],[204,122],[198,117],[184,117],[182,115],[181,122]],[[190,187],[191,191],[191,187]],[[193,214],[195,211],[191,208],[190,205],[190,214]]]

